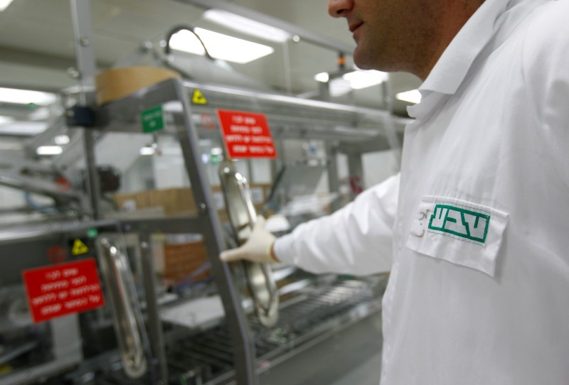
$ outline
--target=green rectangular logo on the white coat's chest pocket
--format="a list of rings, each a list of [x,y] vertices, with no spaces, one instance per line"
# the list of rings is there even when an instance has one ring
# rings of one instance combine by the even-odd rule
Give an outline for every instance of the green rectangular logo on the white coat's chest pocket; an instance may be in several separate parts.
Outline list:
[[[484,244],[489,223],[490,215],[452,205],[436,205],[429,229]]]

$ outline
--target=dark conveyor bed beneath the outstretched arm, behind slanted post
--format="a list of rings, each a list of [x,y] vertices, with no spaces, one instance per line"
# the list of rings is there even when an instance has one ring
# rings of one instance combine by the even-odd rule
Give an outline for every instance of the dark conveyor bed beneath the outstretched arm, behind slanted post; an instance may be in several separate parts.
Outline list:
[[[300,299],[283,303],[275,327],[250,320],[257,359],[262,362],[290,354],[315,337],[353,320],[351,310],[362,304],[379,307],[381,292],[370,283],[338,281],[326,288],[310,288]],[[345,318],[345,319],[343,319]],[[233,349],[225,325],[195,335],[168,351],[171,384],[223,384],[233,371]],[[191,372],[191,376],[188,376]]]

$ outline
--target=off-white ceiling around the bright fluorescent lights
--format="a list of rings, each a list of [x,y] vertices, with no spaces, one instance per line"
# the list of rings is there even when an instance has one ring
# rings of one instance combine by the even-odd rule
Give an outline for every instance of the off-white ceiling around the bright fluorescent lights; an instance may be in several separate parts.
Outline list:
[[[204,21],[201,14],[205,9],[183,1],[92,0],[91,3],[99,69],[129,57],[144,41],[157,47],[166,33],[179,24],[255,40]],[[327,0],[235,0],[231,3],[355,47],[346,21],[328,16]],[[314,75],[336,68],[337,53],[333,50],[302,40],[286,45],[256,41],[272,45],[275,53],[253,63],[232,66],[276,90],[294,94],[317,90]],[[348,57],[348,63],[351,65],[351,57]],[[6,11],[0,12],[0,86],[60,90],[75,85],[75,80],[66,75],[68,67],[74,65],[70,0],[14,0]],[[393,74],[391,93],[411,90],[419,83],[412,75]],[[381,88],[358,91],[353,100],[358,104],[381,107]],[[395,112],[405,114],[405,106],[403,102],[395,102]]]

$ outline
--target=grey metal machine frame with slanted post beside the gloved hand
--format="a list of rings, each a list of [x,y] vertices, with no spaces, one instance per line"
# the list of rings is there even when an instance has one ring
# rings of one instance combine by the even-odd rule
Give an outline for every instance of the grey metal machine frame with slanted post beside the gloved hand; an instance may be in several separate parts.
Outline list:
[[[189,103],[188,95],[191,90],[196,88],[202,92],[207,92],[208,106],[193,106]],[[166,116],[171,118],[169,121],[174,121],[174,131],[171,130],[171,126],[167,126],[165,131],[167,134],[176,134],[179,139],[186,171],[193,187],[194,200],[198,207],[198,217],[166,219],[164,222],[161,221],[161,225],[172,229],[185,228],[187,232],[203,234],[235,347],[235,379],[238,384],[257,384],[255,345],[252,341],[251,330],[241,308],[238,293],[235,292],[233,276],[228,270],[228,265],[223,264],[217,257],[220,251],[224,249],[223,235],[220,233],[221,227],[216,210],[213,209],[215,205],[213,204],[210,183],[201,167],[201,152],[198,148],[196,124],[192,119],[193,113],[211,113],[212,106],[230,109],[251,109],[253,107],[256,112],[267,113],[272,128],[277,126],[286,130],[289,126],[296,127],[300,121],[309,126],[304,121],[309,120],[312,121],[311,124],[319,124],[320,126],[319,130],[314,131],[314,134],[324,131],[327,131],[326,134],[328,134],[329,131],[334,130],[336,125],[343,124],[342,130],[335,133],[336,137],[341,138],[346,143],[354,143],[354,141],[356,143],[367,143],[366,148],[369,148],[369,151],[377,150],[378,147],[389,148],[389,143],[393,143],[393,138],[395,141],[398,139],[393,124],[394,118],[382,110],[312,101],[234,87],[204,85],[183,80],[166,80],[103,106],[99,112],[99,121],[102,122],[100,129],[103,132],[140,133],[140,112],[157,105],[163,105]],[[290,114],[292,109],[296,112],[294,116]],[[304,134],[306,132],[305,130]],[[302,137],[302,132],[299,131],[293,136]],[[373,142],[375,146],[369,145],[370,142]],[[329,153],[334,153],[337,150],[337,143],[329,144]],[[332,158],[335,159],[335,157]],[[351,165],[353,165],[353,158],[351,156]],[[331,161],[329,168],[335,170],[337,168],[336,162]],[[333,176],[330,183],[332,188],[337,187],[337,178]],[[127,221],[122,222],[122,226],[126,226],[124,229],[127,231],[130,231],[130,227],[134,226],[143,229],[143,234],[146,234],[142,235],[143,239],[146,239],[143,244],[144,242],[149,243],[147,234],[152,226],[151,222],[147,222],[147,220]],[[161,230],[165,231],[164,227],[161,227]],[[145,257],[144,263],[147,265],[145,276],[149,278],[151,276],[149,267],[151,266],[151,259],[149,256]],[[153,297],[153,294],[150,293],[151,282],[153,282],[152,279],[145,283],[148,286],[147,295],[149,298]],[[150,301],[149,311],[156,313],[156,316],[151,317],[156,319],[156,325],[151,326],[152,330],[149,331],[149,334],[153,340],[153,345],[161,346],[158,345],[163,337],[161,336],[160,321],[157,317],[157,305],[151,304]],[[161,369],[161,378],[166,379],[165,357],[159,354],[157,360]]]

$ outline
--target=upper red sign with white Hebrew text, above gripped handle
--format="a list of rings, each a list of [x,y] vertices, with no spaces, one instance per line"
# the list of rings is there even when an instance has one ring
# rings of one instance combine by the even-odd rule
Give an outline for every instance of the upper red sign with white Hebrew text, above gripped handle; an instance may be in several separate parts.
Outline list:
[[[218,109],[218,116],[229,158],[277,158],[264,114]]]

